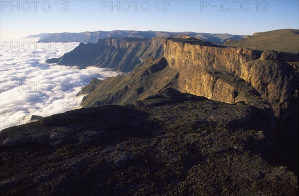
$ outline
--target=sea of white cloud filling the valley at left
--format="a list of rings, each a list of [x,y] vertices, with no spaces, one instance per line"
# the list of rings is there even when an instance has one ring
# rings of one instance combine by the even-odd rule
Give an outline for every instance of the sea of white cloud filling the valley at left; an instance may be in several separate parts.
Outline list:
[[[38,38],[3,39],[0,44],[0,130],[80,107],[76,94],[92,78],[120,73],[111,69],[48,64],[79,43],[37,43]]]

